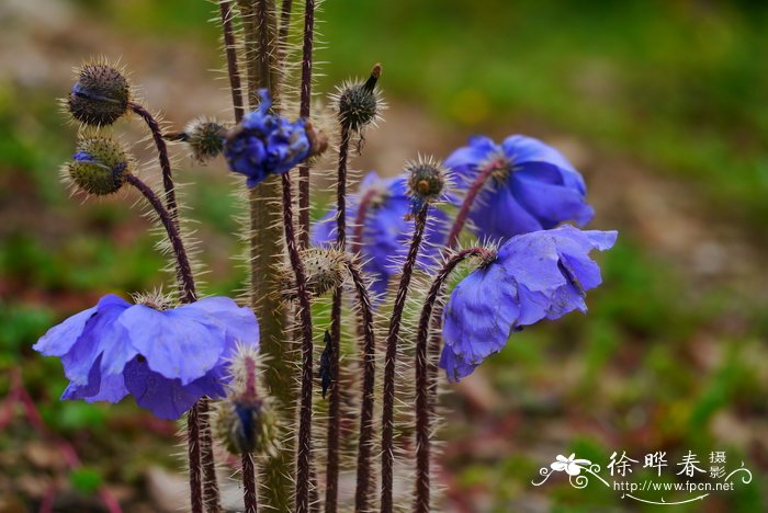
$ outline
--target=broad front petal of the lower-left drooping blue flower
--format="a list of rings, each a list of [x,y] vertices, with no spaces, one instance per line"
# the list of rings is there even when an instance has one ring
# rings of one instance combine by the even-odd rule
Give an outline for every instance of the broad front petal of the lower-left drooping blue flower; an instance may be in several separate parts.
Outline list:
[[[120,317],[120,323],[150,369],[180,378],[182,385],[202,377],[224,352],[225,331],[213,316],[192,305],[166,311],[136,305]]]

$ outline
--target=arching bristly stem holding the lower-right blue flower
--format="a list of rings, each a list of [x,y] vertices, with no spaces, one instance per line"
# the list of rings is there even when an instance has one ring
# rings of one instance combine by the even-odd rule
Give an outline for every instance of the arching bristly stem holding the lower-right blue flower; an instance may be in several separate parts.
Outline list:
[[[432,414],[432,397],[430,390],[434,387],[429,383],[428,363],[434,357],[427,353],[432,311],[438,304],[438,297],[451,272],[468,256],[492,258],[493,251],[485,248],[470,248],[459,251],[443,264],[429,288],[421,309],[419,327],[416,334],[416,497],[415,513],[430,511],[430,431]],[[439,323],[439,320],[438,320]]]

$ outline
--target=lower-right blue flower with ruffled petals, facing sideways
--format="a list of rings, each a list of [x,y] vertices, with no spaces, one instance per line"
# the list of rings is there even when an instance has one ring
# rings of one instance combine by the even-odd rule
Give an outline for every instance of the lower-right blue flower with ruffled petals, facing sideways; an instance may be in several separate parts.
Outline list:
[[[615,238],[615,231],[564,225],[504,243],[496,260],[470,273],[448,300],[440,356],[448,378],[458,381],[472,374],[523,326],[586,312],[586,290],[601,283],[589,251],[610,249]]]

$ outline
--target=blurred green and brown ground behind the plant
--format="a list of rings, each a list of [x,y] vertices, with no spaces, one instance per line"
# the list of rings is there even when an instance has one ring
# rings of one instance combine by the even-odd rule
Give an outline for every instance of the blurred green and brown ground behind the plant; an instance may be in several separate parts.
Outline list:
[[[300,2],[296,2],[300,3]],[[174,468],[173,426],[120,406],[59,402],[60,364],[31,345],[108,292],[167,276],[134,196],[68,196],[58,167],[76,127],[56,98],[72,66],[121,58],[173,127],[227,115],[219,33],[202,0],[4,0],[0,4],[0,511],[100,511],[105,485],[127,511],[158,511],[156,468]],[[467,136],[513,133],[555,145],[581,170],[595,228],[618,229],[599,256],[589,314],[516,334],[454,388],[441,475],[450,511],[656,510],[598,482],[575,490],[539,468],[576,453],[601,466],[688,451],[753,470],[750,485],[676,511],[768,508],[768,9],[694,0],[328,0],[317,54],[325,93],[384,65],[389,109],[354,166],[396,173],[417,152],[445,157]],[[156,174],[143,126],[116,132]],[[233,181],[177,148],[200,221],[208,293],[242,272]],[[329,164],[330,166],[330,164]],[[194,182],[194,183],[192,183]],[[82,459],[61,464],[9,395],[23,376],[43,420]],[[148,429],[149,428],[149,429]],[[668,474],[674,478],[674,471]],[[633,480],[648,477],[636,468]],[[665,495],[667,501],[684,495]],[[651,499],[659,500],[659,497]],[[671,506],[668,506],[671,508]]]

